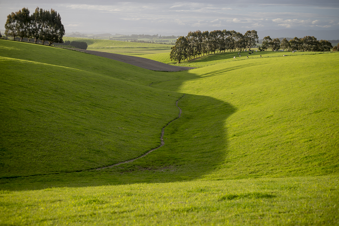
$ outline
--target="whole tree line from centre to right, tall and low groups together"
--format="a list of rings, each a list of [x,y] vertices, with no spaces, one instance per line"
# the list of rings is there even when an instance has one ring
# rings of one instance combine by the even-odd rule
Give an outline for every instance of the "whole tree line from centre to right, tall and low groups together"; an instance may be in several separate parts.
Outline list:
[[[244,35],[234,30],[190,31],[187,36],[180,36],[177,39],[175,45],[171,48],[170,58],[180,63],[218,51],[243,51],[256,46],[256,43],[259,43],[258,40],[256,30],[248,30]],[[266,36],[258,49],[267,50],[268,48],[288,51],[330,51],[333,46],[331,42],[327,40],[318,41],[314,36],[295,37],[290,41],[287,41],[286,38],[282,41],[278,38],[272,40],[270,36]],[[336,50],[338,50],[338,47]]]

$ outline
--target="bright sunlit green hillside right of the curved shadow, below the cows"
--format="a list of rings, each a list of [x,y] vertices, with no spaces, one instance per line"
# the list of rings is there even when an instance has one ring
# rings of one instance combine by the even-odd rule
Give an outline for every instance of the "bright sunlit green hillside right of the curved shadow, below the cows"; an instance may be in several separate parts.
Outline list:
[[[339,167],[338,60],[328,53],[228,62],[154,86],[236,109],[223,121],[228,145],[216,177],[326,175]]]

